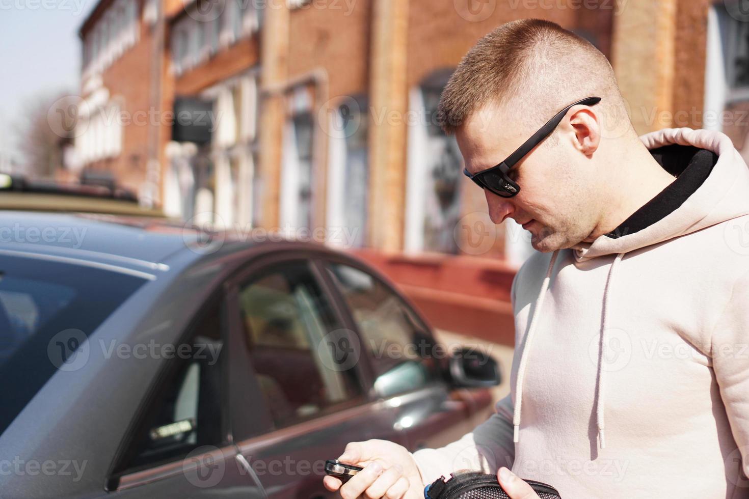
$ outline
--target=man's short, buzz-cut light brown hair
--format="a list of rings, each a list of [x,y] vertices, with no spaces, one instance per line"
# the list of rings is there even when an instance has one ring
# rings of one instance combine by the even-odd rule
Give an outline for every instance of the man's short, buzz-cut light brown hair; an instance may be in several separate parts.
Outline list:
[[[596,108],[608,117],[613,118],[612,110],[626,116],[605,55],[555,22],[520,19],[494,29],[467,52],[440,97],[437,117],[449,135],[494,102],[522,105],[518,119],[537,127],[571,102],[591,96],[602,97]]]

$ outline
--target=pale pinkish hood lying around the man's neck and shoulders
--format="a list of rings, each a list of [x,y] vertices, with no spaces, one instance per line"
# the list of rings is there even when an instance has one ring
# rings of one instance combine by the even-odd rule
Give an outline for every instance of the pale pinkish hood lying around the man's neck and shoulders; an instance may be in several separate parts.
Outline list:
[[[668,128],[640,137],[649,150],[671,144],[694,146],[718,155],[718,162],[705,182],[682,206],[636,233],[612,239],[599,236],[594,242],[574,246],[578,262],[608,254],[622,254],[719,224],[749,213],[749,168],[721,132]]]

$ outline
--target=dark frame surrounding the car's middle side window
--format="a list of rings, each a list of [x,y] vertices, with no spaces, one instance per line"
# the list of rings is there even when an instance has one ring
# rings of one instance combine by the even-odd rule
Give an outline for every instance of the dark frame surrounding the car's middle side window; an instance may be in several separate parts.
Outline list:
[[[321,296],[327,299],[330,305],[330,312],[342,328],[346,328],[352,331],[352,334],[358,334],[354,328],[352,328],[351,322],[348,322],[348,314],[342,310],[342,303],[336,301],[336,296],[331,293],[330,286],[324,278],[324,274],[321,273],[321,268],[316,264],[317,256],[310,256],[309,250],[289,250],[280,251],[278,254],[269,254],[264,257],[253,260],[253,262],[237,272],[237,276],[231,280],[231,284],[228,284],[228,313],[229,316],[229,327],[230,327],[230,339],[229,349],[234,355],[234,362],[231,363],[232,376],[234,380],[234,388],[229,388],[231,394],[231,400],[229,402],[231,411],[231,431],[234,435],[235,441],[245,441],[250,438],[257,438],[263,435],[267,435],[273,432],[285,431],[289,428],[294,428],[298,425],[308,424],[310,421],[319,420],[323,417],[329,416],[330,414],[336,414],[340,411],[345,411],[349,408],[358,407],[365,405],[366,403],[372,402],[371,393],[369,387],[372,385],[372,372],[371,366],[369,366],[369,358],[360,354],[360,361],[354,367],[354,374],[357,377],[359,383],[360,395],[358,397],[352,397],[343,402],[338,402],[332,405],[328,405],[321,411],[311,414],[309,417],[301,417],[293,420],[284,426],[276,426],[273,422],[273,417],[270,414],[270,407],[268,407],[264,395],[262,394],[258,385],[257,377],[255,376],[255,370],[252,366],[252,361],[249,358],[249,352],[246,345],[246,335],[241,321],[241,308],[239,302],[240,289],[244,284],[252,281],[255,275],[264,273],[269,269],[276,266],[281,266],[283,263],[292,263],[303,261],[309,269],[310,275],[315,280],[315,284],[321,291]],[[361,344],[360,337],[357,337],[358,341],[354,341],[354,348],[358,348],[357,345]],[[363,361],[362,361],[363,360]],[[246,369],[244,373],[242,370]],[[237,376],[243,376],[244,382],[238,382]],[[241,389],[239,389],[241,387]],[[254,399],[249,397],[247,388],[249,387],[249,394],[255,395]],[[249,400],[252,399],[254,406],[250,406]],[[258,400],[261,401],[258,404]],[[248,414],[252,414],[252,411],[256,411],[253,417],[248,417]],[[252,421],[252,422],[251,422]]]

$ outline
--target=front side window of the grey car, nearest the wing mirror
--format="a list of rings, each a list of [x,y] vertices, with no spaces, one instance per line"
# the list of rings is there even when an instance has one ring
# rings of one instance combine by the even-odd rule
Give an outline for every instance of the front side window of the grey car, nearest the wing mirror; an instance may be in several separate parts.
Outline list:
[[[436,381],[434,340],[413,310],[363,270],[342,263],[327,268],[374,359],[377,394],[390,397]]]

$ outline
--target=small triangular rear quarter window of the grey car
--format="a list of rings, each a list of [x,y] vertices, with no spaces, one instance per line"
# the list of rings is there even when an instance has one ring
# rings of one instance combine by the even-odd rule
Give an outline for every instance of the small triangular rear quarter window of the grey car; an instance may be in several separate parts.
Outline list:
[[[222,444],[222,364],[226,354],[222,352],[220,311],[220,303],[210,307],[187,340],[174,349],[161,349],[163,355],[174,357],[169,361],[174,365],[121,469],[180,458],[201,445]]]

